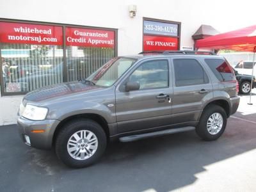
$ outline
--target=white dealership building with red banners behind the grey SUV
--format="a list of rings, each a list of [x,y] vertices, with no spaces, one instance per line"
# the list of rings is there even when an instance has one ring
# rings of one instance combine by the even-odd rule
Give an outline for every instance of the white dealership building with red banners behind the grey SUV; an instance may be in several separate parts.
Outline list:
[[[115,56],[193,50],[197,39],[254,22],[207,1],[0,2],[0,125],[15,124],[26,93],[84,79]]]

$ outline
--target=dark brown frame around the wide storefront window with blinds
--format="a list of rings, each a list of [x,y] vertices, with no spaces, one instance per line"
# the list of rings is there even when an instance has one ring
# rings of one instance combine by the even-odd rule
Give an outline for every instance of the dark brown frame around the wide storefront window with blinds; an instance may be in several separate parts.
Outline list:
[[[50,26],[59,26],[62,28],[63,34],[63,83],[67,83],[67,45],[66,45],[66,28],[86,28],[86,29],[100,29],[100,30],[108,30],[113,31],[115,33],[115,44],[114,44],[114,56],[118,56],[118,29],[116,28],[102,28],[102,27],[95,27],[95,26],[82,26],[76,24],[65,24],[65,23],[55,23],[55,22],[41,22],[41,21],[33,21],[33,20],[18,20],[18,19],[4,19],[0,18],[0,22],[15,22],[20,24],[38,24],[38,25],[50,25]],[[28,92],[4,92],[4,82],[3,82],[3,72],[2,72],[2,56],[1,56],[1,49],[2,44],[0,42],[0,86],[1,86],[1,97],[3,96],[15,96],[15,95],[26,95]]]

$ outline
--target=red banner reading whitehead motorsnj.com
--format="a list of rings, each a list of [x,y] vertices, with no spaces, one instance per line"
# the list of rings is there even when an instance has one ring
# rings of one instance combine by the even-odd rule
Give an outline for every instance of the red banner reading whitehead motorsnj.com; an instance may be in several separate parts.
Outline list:
[[[0,22],[0,42],[8,44],[62,45],[62,27]]]

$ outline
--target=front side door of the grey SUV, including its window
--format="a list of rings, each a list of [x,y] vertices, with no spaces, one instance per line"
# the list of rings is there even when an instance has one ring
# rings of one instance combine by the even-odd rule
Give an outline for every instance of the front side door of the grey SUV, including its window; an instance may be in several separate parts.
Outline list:
[[[130,92],[116,90],[116,120],[118,132],[138,131],[171,124],[170,70],[168,59],[148,60],[125,79],[140,83],[140,89]]]

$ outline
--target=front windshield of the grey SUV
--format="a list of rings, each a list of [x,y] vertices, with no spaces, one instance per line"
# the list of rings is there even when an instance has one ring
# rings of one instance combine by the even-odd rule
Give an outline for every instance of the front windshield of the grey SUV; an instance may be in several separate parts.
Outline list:
[[[136,62],[132,58],[113,58],[87,78],[98,86],[112,86]]]

